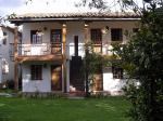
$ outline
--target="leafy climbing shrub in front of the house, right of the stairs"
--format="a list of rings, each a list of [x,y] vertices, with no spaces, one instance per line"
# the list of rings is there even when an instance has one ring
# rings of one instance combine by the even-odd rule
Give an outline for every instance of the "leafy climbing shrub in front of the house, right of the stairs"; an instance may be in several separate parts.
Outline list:
[[[110,65],[111,56],[103,56],[101,53],[93,51],[93,43],[85,43],[85,57],[84,57],[84,75],[86,80],[86,96],[89,97],[91,86],[93,86],[95,75],[99,73],[103,66]]]

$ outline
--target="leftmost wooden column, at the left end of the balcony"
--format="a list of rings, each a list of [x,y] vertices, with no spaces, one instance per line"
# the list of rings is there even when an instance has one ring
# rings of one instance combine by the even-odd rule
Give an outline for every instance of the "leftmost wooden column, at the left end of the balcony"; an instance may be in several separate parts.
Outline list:
[[[17,64],[17,43],[18,43],[18,30],[14,28],[14,89],[18,91],[18,64]]]

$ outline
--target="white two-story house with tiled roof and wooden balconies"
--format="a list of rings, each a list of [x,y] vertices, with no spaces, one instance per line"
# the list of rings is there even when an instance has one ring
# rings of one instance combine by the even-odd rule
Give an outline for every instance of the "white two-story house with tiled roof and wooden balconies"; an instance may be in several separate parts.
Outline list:
[[[16,32],[14,40],[23,92],[48,93],[85,91],[85,77],[80,75],[84,44],[92,41],[96,52],[112,54],[111,43],[126,43],[124,32],[135,30],[139,17],[134,13],[30,13],[9,21],[23,25],[22,43],[17,44]],[[96,76],[93,92],[116,94],[123,80],[121,68],[103,67]]]

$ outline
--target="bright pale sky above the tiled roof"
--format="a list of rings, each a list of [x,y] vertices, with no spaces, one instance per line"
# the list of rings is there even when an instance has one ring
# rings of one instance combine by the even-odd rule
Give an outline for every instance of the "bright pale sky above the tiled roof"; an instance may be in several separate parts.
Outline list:
[[[48,3],[47,3],[48,1]],[[0,16],[5,16],[12,13],[51,13],[51,12],[88,12],[98,11],[96,9],[76,8],[75,3],[80,0],[33,0],[26,4],[26,0],[0,0]],[[113,5],[114,0],[105,0]],[[136,0],[140,3],[141,0]],[[114,6],[114,9],[117,9]]]

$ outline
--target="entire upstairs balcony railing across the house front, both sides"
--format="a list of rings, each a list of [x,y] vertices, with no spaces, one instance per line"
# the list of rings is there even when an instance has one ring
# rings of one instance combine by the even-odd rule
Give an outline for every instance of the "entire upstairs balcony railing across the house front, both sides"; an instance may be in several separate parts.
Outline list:
[[[110,51],[112,46],[111,43],[105,44],[93,44],[93,51],[97,53],[103,53],[103,54],[112,54]],[[18,56],[37,56],[37,55],[61,55],[62,54],[62,42],[58,43],[41,43],[41,44],[17,44],[18,49]],[[74,43],[66,44],[66,54],[67,56],[74,56],[75,55],[75,45]],[[78,55],[85,56],[85,50],[84,50],[84,43],[78,44]],[[11,43],[10,46],[10,56],[13,58],[14,56],[14,46],[13,43]]]

